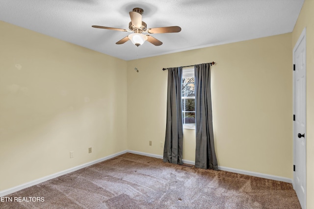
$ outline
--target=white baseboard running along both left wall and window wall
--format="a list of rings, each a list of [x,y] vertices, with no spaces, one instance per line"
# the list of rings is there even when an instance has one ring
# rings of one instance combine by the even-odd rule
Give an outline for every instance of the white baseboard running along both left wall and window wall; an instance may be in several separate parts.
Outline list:
[[[31,182],[27,182],[27,183],[19,185],[19,186],[15,186],[15,187],[12,187],[12,188],[9,188],[9,189],[6,189],[6,190],[2,190],[2,191],[0,191],[0,197],[3,197],[5,195],[11,194],[13,192],[19,191],[21,189],[27,188],[29,186],[34,186],[34,185],[37,185],[39,183],[51,180],[53,178],[62,176],[64,174],[71,173],[71,172],[76,171],[78,169],[81,169],[81,168],[84,168],[84,167],[87,167],[87,166],[90,166],[90,165],[93,165],[93,164],[96,164],[96,163],[100,163],[100,162],[103,162],[105,160],[109,160],[111,158],[117,157],[117,156],[125,154],[125,153],[133,153],[133,154],[137,154],[137,155],[143,155],[143,156],[163,159],[163,156],[161,156],[161,155],[150,154],[150,153],[145,153],[145,152],[137,152],[137,151],[133,151],[133,150],[125,150],[125,151],[118,152],[118,153],[106,156],[104,158],[101,158],[101,159],[98,159],[98,160],[95,160],[95,161],[92,161],[92,162],[89,162],[89,163],[78,165],[76,167],[60,171],[58,173],[54,173],[54,174],[49,175],[49,176],[45,176],[45,177],[40,178],[40,179],[36,179],[34,181],[31,181]],[[187,161],[187,160],[182,160],[182,161],[183,161],[183,163],[186,163],[186,164],[191,164],[191,165],[195,164],[194,161]],[[249,175],[249,176],[256,176],[256,177],[261,177],[261,178],[264,178],[264,179],[271,179],[271,180],[287,182],[287,183],[291,183],[291,184],[293,183],[292,179],[288,179],[286,177],[273,176],[273,175],[257,173],[257,172],[252,172],[252,171],[246,171],[246,170],[240,170],[240,169],[235,169],[235,168],[229,168],[229,167],[224,167],[224,166],[218,166],[218,168],[219,168],[219,170],[229,171],[229,172],[233,172],[233,173],[239,173],[239,174],[244,174],[244,175]]]

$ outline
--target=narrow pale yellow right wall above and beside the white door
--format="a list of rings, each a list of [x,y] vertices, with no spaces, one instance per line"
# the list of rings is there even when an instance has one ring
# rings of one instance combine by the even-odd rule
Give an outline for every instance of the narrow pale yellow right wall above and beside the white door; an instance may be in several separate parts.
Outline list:
[[[292,47],[306,27],[307,53],[307,208],[314,208],[314,0],[305,0],[292,32]]]

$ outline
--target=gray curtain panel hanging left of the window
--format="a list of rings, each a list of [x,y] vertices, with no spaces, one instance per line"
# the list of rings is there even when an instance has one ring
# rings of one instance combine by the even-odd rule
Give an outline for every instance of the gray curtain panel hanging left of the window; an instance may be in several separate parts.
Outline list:
[[[183,164],[182,67],[168,68],[167,121],[163,162]]]

